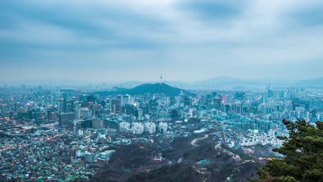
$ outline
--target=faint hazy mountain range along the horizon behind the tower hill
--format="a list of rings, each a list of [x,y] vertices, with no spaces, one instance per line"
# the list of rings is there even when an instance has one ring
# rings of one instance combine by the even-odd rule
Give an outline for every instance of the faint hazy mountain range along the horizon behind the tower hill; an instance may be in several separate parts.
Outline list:
[[[38,81],[15,81],[10,82],[9,85],[15,85],[21,87],[21,83],[28,85],[28,88],[38,88],[38,85],[42,85],[43,88],[71,88],[71,89],[92,89],[102,90],[111,89],[115,90],[119,88],[121,90],[129,89],[128,92],[132,91],[135,87],[145,84],[159,83],[159,81],[141,82],[141,81],[127,81],[124,83],[86,83],[81,81],[60,81],[55,80],[52,84],[45,80]],[[205,79],[202,81],[164,81],[166,85],[170,85],[174,88],[182,88],[185,90],[264,90],[269,84],[271,88],[286,88],[286,87],[304,87],[304,88],[323,88],[323,77],[316,79],[306,79],[300,81],[288,81],[282,79],[255,79],[246,80],[233,77],[215,77],[213,79]],[[148,85],[146,85],[148,87]],[[135,91],[134,91],[135,92]]]

